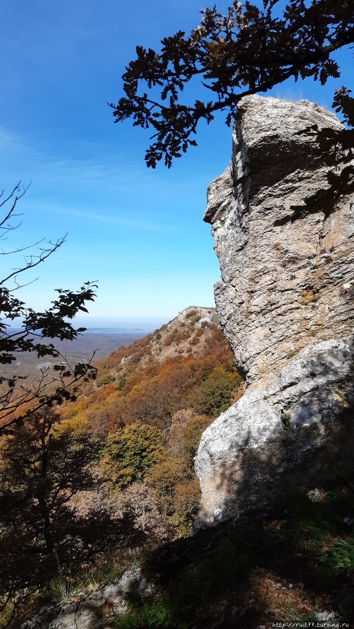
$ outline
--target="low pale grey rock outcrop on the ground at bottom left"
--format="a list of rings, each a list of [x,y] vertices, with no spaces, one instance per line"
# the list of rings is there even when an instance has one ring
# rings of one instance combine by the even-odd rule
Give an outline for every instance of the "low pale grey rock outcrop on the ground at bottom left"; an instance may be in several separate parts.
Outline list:
[[[45,608],[21,629],[105,629],[115,624],[114,616],[125,614],[125,598],[134,591],[142,596],[151,594],[151,586],[139,569],[125,572],[84,599],[74,597],[61,606]]]

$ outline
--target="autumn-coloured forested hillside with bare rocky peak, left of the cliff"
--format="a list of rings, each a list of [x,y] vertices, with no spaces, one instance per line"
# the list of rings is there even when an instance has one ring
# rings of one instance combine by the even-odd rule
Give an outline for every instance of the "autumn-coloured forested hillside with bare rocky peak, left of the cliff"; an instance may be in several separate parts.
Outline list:
[[[200,435],[243,391],[211,308],[187,308],[96,367],[76,401],[2,437],[4,624],[190,535]]]

